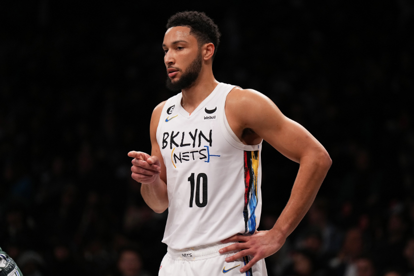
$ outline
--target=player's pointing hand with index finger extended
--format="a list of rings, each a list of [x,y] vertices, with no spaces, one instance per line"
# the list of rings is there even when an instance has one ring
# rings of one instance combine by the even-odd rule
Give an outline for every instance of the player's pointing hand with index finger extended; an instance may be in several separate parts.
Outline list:
[[[131,176],[134,180],[142,184],[150,184],[160,177],[161,163],[157,156],[140,151],[130,151],[128,156],[134,157],[131,167]]]

